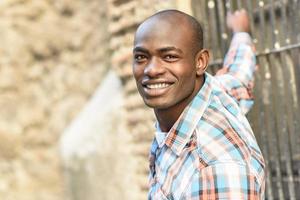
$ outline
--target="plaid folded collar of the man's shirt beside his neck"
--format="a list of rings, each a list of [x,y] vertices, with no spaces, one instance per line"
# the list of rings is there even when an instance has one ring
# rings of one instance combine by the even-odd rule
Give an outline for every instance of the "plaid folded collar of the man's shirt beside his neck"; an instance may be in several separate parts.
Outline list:
[[[165,144],[179,156],[201,119],[205,109],[207,108],[211,96],[211,82],[213,77],[205,73],[205,82],[198,94],[183,110],[179,119],[167,133]],[[156,128],[159,127],[157,122]],[[160,145],[161,146],[161,145]]]

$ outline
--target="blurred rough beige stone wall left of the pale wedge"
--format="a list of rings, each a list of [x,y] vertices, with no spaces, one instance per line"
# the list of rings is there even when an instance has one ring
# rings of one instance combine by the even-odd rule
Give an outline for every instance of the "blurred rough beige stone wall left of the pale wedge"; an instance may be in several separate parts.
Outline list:
[[[0,1],[0,199],[59,200],[60,133],[109,66],[106,1]]]

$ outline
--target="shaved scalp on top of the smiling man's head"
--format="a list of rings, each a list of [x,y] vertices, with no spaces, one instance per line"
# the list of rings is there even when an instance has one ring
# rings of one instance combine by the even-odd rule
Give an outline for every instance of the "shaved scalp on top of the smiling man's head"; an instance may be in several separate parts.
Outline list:
[[[152,28],[159,31],[164,28],[172,30],[184,29],[187,36],[191,35],[191,45],[196,52],[203,48],[203,30],[200,23],[192,16],[179,10],[163,10],[148,17],[137,29],[152,24]],[[148,26],[149,27],[149,26]],[[136,39],[136,38],[135,38]]]

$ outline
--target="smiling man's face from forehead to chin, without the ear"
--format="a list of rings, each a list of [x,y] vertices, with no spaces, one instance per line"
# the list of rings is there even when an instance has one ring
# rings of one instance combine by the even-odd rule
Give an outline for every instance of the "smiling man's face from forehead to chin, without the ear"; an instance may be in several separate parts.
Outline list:
[[[180,24],[174,22],[176,24]],[[184,24],[150,19],[137,30],[133,75],[146,105],[154,109],[186,106],[196,92],[192,34]]]

